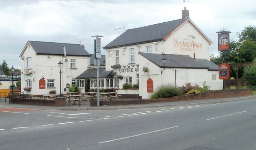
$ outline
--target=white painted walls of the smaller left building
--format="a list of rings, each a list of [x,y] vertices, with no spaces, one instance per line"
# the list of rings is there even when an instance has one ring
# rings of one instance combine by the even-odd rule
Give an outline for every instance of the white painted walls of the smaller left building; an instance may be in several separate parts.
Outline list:
[[[63,63],[62,73],[61,73],[61,86],[62,86],[62,94],[68,92],[68,88],[66,88],[66,84],[69,83],[71,86],[72,79],[76,78],[82,72],[84,72],[89,64],[89,57],[81,57],[81,56],[67,56],[62,57],[60,55],[36,55],[34,49],[29,46],[24,51],[24,60],[22,60],[21,64],[21,88],[26,87],[26,80],[32,80],[32,89],[30,92],[24,91],[24,94],[49,94],[49,91],[56,90],[57,94],[60,93],[60,69],[58,67],[58,63],[60,60]],[[26,58],[32,57],[32,68],[26,69]],[[70,68],[70,59],[76,59],[76,69]],[[26,75],[27,72],[36,71],[33,73],[33,77]],[[46,81],[46,89],[39,89],[39,80],[41,78],[45,78]],[[47,79],[54,79],[54,88],[47,88]],[[67,91],[64,91],[66,88]]]

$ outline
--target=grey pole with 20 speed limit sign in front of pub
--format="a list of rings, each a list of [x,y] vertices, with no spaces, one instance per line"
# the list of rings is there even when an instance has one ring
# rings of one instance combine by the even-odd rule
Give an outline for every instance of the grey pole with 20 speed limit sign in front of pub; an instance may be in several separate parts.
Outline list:
[[[99,90],[99,59],[101,58],[101,38],[104,36],[92,36],[94,39],[94,58],[96,58],[97,62],[97,106],[100,106],[100,90]]]

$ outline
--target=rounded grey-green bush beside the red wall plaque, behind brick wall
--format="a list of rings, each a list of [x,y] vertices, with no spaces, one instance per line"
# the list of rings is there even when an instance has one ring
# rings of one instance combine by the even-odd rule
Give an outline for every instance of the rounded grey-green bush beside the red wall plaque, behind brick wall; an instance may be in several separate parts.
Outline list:
[[[166,84],[157,87],[157,89],[150,95],[150,99],[157,99],[158,97],[174,97],[182,95],[182,91],[176,88],[173,84]]]

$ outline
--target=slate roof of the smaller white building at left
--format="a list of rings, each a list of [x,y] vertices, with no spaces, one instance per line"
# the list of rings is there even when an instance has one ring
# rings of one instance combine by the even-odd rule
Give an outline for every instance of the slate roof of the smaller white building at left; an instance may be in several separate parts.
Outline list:
[[[28,43],[34,48],[37,54],[64,55],[62,44],[65,44],[67,55],[91,56],[80,44],[54,43],[45,41],[28,41]],[[26,46],[24,47],[24,49],[25,48]],[[24,49],[20,54],[20,57],[22,56]]]

